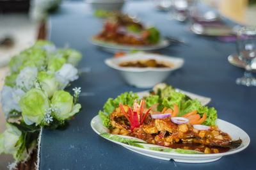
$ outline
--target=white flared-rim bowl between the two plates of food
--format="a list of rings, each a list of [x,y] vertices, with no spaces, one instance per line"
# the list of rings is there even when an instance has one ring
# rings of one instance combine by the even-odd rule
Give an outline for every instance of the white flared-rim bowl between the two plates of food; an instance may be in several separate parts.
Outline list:
[[[136,68],[119,66],[120,63],[125,61],[147,59],[156,59],[156,61],[168,61],[174,66],[171,68]],[[184,59],[173,58],[159,54],[138,52],[136,54],[127,54],[122,58],[109,58],[105,60],[105,63],[111,68],[118,70],[127,84],[136,86],[137,88],[152,88],[157,83],[163,82],[173,70],[180,68],[184,63]]]

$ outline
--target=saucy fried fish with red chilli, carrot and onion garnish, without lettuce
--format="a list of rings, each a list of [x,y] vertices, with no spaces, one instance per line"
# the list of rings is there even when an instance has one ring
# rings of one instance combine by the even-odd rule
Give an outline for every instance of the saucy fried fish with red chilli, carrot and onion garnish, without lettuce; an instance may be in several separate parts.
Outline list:
[[[201,151],[203,153],[222,153],[241,145],[242,140],[232,140],[230,135],[217,126],[200,125],[206,119],[197,111],[177,117],[179,107],[164,107],[163,111],[146,108],[144,100],[140,105],[134,101],[133,107],[120,103],[110,114],[113,127],[111,134],[129,135],[143,139],[147,143]]]

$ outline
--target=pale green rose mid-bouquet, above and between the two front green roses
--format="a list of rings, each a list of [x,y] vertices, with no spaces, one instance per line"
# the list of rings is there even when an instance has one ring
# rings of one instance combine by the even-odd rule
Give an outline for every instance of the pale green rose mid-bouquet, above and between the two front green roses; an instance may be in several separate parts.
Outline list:
[[[47,93],[47,97],[51,98],[53,93],[59,89],[60,82],[58,82],[57,78],[54,77],[53,73],[39,72],[37,77],[42,89]],[[37,83],[36,87],[38,88]]]

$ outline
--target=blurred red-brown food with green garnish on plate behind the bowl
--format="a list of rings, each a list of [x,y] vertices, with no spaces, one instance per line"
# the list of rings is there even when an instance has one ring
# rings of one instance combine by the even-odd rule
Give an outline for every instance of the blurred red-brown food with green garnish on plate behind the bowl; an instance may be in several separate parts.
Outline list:
[[[153,45],[159,42],[160,33],[156,27],[145,27],[129,15],[116,13],[106,20],[95,40],[124,45]]]

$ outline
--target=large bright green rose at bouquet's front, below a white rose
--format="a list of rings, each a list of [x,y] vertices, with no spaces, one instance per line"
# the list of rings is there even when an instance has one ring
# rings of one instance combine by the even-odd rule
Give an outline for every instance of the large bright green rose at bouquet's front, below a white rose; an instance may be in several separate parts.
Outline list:
[[[26,95],[20,99],[20,109],[26,124],[38,125],[44,118],[44,112],[49,108],[47,95],[40,89],[30,89]]]

